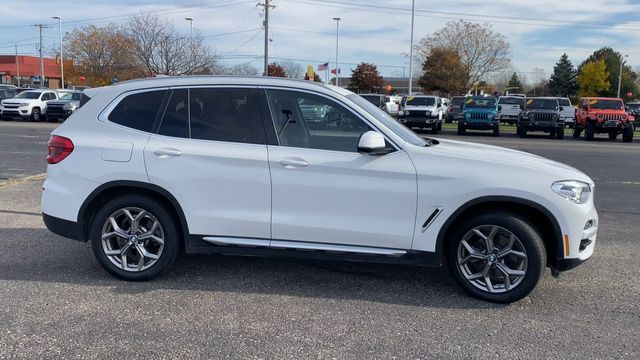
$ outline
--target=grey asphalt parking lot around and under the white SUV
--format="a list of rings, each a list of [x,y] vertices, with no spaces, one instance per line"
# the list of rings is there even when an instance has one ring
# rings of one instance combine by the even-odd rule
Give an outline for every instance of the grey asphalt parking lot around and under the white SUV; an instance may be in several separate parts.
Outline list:
[[[53,128],[0,122],[0,358],[640,358],[638,139],[436,136],[596,181],[594,257],[504,306],[465,296],[444,270],[405,266],[188,256],[158,280],[116,280],[88,244],[42,223],[33,175]]]

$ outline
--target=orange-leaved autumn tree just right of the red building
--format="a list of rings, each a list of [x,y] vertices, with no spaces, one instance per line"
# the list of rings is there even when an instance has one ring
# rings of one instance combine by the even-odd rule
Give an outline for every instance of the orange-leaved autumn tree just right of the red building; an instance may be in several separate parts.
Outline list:
[[[111,79],[127,80],[142,75],[142,70],[132,61],[133,44],[121,28],[115,25],[98,27],[89,25],[77,28],[64,37],[67,82],[102,86],[111,84]]]

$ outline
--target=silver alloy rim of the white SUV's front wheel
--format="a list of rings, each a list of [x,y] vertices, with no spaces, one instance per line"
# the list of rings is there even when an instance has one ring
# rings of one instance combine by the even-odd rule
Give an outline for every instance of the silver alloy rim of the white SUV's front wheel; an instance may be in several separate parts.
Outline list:
[[[469,230],[458,244],[457,264],[464,278],[488,293],[504,293],[522,283],[527,253],[518,237],[496,225]]]

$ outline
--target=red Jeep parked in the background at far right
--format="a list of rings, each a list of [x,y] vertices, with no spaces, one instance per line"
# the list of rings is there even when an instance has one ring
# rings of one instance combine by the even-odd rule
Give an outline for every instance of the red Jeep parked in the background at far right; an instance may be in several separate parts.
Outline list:
[[[584,138],[593,140],[595,134],[607,133],[614,140],[622,134],[622,141],[633,141],[634,117],[627,114],[622,99],[615,98],[581,98],[576,107],[576,126],[573,137],[580,137],[584,130]]]

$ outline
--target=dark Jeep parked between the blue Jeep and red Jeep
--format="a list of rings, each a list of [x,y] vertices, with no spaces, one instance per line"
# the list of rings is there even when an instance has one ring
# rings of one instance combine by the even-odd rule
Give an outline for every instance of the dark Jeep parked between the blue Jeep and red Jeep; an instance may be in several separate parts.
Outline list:
[[[529,131],[543,131],[552,138],[564,139],[564,119],[560,117],[562,110],[555,97],[527,99],[518,118],[516,133],[523,138]]]

